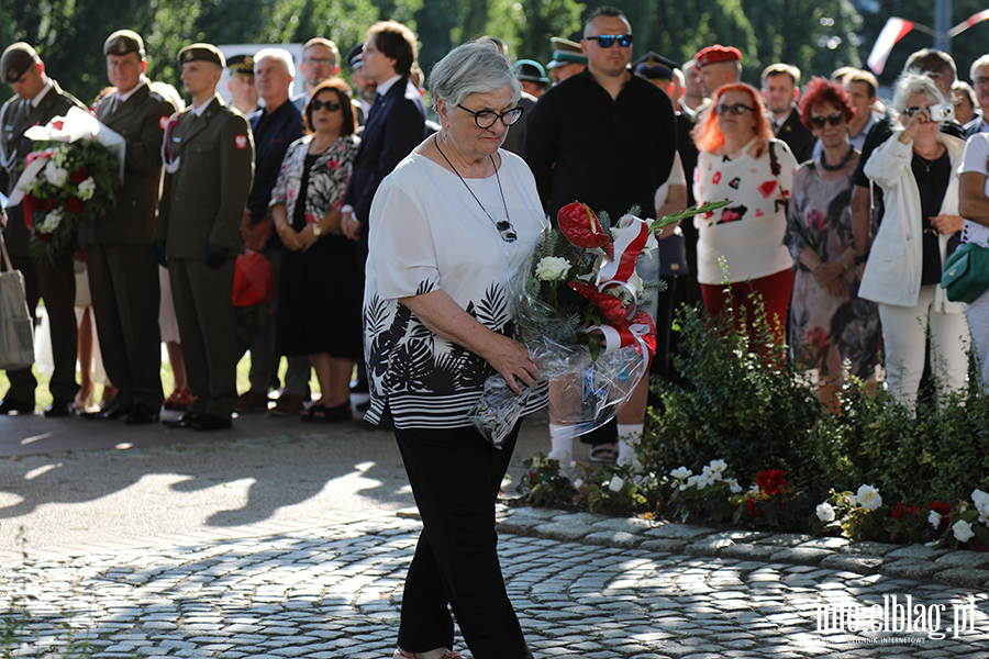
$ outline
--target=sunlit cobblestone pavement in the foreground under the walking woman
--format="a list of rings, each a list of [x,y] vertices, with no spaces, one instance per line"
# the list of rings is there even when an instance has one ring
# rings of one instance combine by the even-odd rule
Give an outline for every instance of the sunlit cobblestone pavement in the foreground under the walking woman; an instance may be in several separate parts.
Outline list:
[[[975,573],[971,552],[902,558],[529,509],[500,517],[509,593],[537,658],[989,657],[982,585],[934,582],[959,565]],[[0,590],[27,605],[32,657],[88,640],[98,658],[387,658],[420,529],[405,511],[48,550],[0,563]],[[863,556],[878,562],[831,558]],[[938,563],[949,556],[954,567]],[[936,568],[921,580],[886,569],[903,560]],[[902,630],[907,604],[920,632]],[[856,606],[894,630],[855,630]],[[822,612],[843,629],[819,632]]]

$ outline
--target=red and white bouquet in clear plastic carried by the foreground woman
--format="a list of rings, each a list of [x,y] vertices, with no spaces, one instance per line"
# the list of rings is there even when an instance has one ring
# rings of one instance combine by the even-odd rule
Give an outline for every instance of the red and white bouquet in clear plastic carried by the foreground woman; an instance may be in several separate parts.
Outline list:
[[[643,282],[635,261],[643,254],[658,258],[652,253],[662,227],[720,205],[653,223],[629,213],[615,226],[579,202],[560,209],[558,228],[544,231],[514,300],[515,338],[549,384],[553,423],[582,435],[611,421],[627,402],[656,349],[655,324],[640,301],[663,289],[662,282]],[[503,377],[492,376],[470,420],[500,447],[532,394],[523,387],[518,395]]]

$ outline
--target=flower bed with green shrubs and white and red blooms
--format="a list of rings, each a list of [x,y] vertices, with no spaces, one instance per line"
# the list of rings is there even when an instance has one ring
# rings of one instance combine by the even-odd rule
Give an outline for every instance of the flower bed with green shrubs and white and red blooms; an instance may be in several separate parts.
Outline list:
[[[591,512],[953,548],[989,541],[989,398],[977,378],[964,391],[935,387],[915,414],[853,381],[831,414],[784,347],[764,348],[760,324],[749,345],[731,317],[681,310],[686,356],[675,362],[691,387],[654,383],[659,404],[636,463],[578,465],[575,487],[537,456],[520,489],[535,504]]]

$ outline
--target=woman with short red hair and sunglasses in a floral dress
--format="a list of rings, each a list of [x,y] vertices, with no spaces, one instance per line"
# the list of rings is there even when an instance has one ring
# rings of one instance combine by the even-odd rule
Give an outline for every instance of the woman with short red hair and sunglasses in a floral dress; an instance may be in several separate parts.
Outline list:
[[[818,371],[818,396],[837,412],[843,364],[849,375],[875,382],[882,347],[879,310],[858,297],[852,243],[852,175],[859,153],[848,125],[855,108],[844,88],[814,78],[800,97],[800,120],[823,150],[800,166],[787,223],[793,256],[790,345],[799,367]]]

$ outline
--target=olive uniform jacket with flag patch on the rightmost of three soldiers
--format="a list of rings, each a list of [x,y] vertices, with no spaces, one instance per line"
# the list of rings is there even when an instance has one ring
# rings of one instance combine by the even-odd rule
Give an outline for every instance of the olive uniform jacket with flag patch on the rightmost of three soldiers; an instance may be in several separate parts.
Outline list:
[[[254,179],[254,137],[244,115],[213,97],[202,116],[189,108],[165,134],[165,188],[155,239],[168,258],[205,258],[207,243],[238,249]]]

